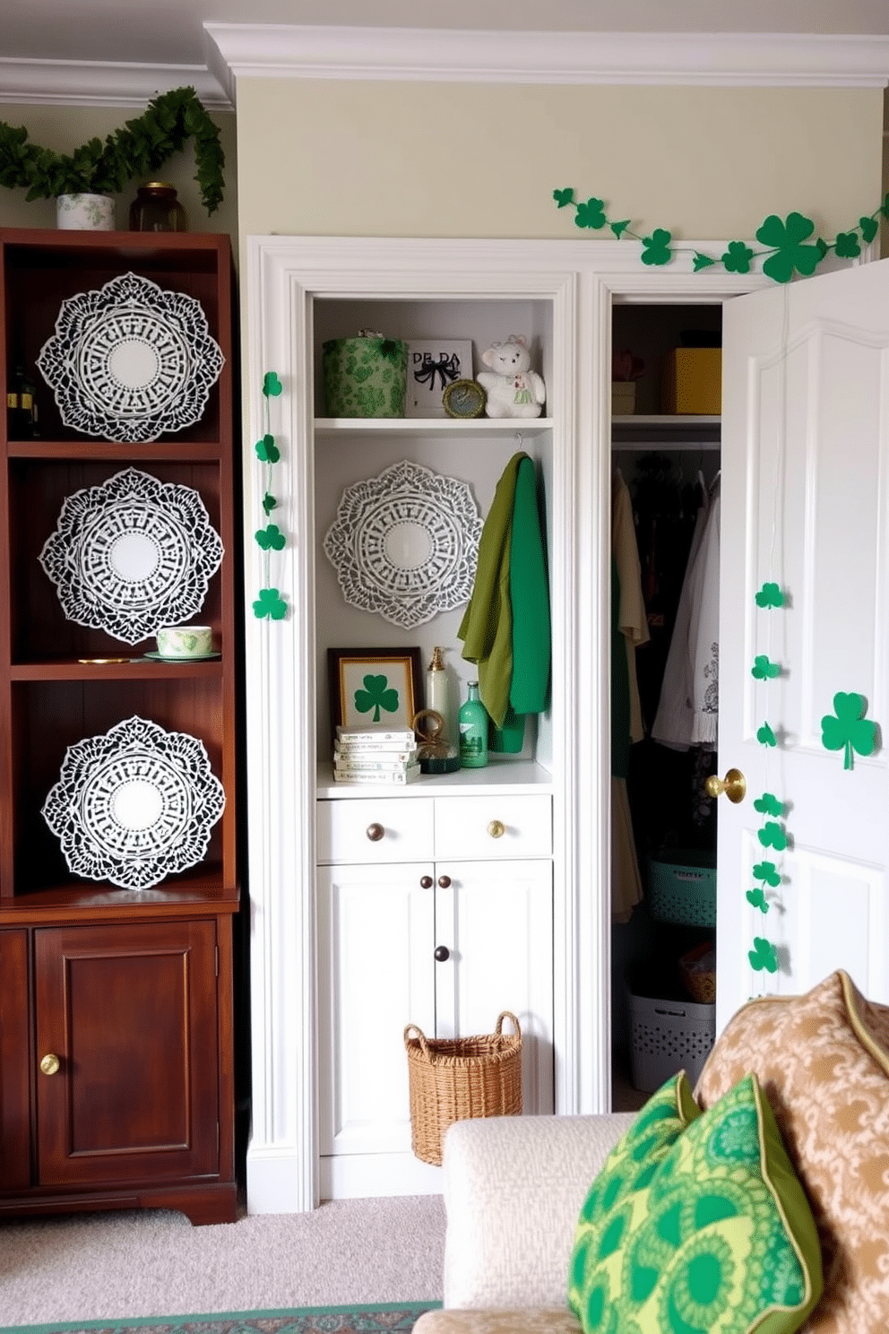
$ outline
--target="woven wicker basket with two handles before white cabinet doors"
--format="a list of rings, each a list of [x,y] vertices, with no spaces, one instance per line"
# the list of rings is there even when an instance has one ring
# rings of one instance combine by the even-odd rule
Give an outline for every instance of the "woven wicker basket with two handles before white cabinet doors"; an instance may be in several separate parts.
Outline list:
[[[504,1019],[514,1033],[502,1033]],[[416,1034],[416,1037],[412,1037]],[[411,1087],[411,1141],[417,1158],[441,1163],[448,1126],[469,1117],[521,1115],[521,1029],[509,1010],[477,1038],[425,1038],[404,1030]]]

